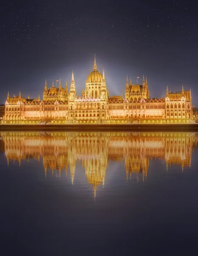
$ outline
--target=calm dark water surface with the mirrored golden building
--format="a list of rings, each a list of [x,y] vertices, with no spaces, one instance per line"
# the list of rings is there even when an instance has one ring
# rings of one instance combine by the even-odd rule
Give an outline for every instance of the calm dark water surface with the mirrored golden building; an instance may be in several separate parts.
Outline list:
[[[198,133],[0,132],[0,177],[3,255],[197,255]]]

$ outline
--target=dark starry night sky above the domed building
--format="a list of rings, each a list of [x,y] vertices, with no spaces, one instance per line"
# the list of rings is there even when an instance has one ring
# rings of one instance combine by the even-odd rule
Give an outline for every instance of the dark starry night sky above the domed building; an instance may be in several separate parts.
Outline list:
[[[0,103],[10,96],[38,98],[74,70],[77,96],[93,70],[105,69],[109,95],[124,95],[126,76],[150,97],[192,91],[198,105],[198,3],[195,1],[4,1],[0,7]],[[56,86],[56,85],[55,85]]]

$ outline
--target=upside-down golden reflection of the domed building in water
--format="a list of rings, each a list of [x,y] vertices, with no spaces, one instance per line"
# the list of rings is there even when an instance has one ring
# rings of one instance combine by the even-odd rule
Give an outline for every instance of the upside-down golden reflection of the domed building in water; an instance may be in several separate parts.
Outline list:
[[[192,148],[197,143],[194,132],[0,132],[7,162],[42,158],[45,177],[68,166],[74,183],[76,161],[85,167],[85,175],[93,186],[94,196],[99,185],[105,185],[110,161],[124,161],[126,177],[142,173],[147,179],[150,159],[190,167]]]

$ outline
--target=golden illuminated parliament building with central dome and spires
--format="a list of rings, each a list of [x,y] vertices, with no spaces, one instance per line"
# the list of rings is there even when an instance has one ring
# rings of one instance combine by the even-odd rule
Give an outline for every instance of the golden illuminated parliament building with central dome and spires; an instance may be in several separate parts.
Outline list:
[[[62,88],[45,88],[43,98],[27,99],[21,93],[10,97],[5,103],[2,124],[136,124],[136,123],[191,123],[191,91],[173,93],[168,90],[164,98],[150,98],[147,79],[142,85],[126,81],[125,96],[109,96],[105,72],[97,70],[96,58],[82,96],[77,97],[74,73],[70,89],[66,83]]]

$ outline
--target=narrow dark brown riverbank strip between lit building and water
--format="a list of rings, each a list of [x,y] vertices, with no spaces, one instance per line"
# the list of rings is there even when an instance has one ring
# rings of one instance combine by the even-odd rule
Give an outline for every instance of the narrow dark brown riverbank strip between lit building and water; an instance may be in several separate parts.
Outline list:
[[[0,131],[18,130],[184,130],[198,131],[198,124],[137,124],[137,125],[0,125]]]

